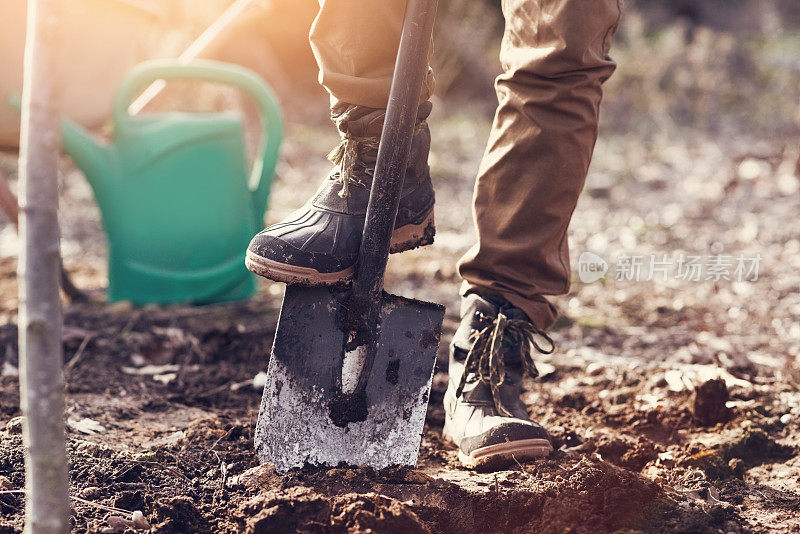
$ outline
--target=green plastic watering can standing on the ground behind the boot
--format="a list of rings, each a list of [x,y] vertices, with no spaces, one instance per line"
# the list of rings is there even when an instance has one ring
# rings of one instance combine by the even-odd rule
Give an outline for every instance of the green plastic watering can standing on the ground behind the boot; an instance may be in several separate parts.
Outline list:
[[[253,97],[263,134],[252,171],[235,113],[128,114],[139,89],[175,78],[221,82]],[[91,184],[108,234],[108,299],[204,304],[251,296],[244,253],[263,226],[282,135],[272,90],[227,63],[148,61],[122,82],[113,117],[107,146],[75,123],[63,127],[64,150]]]

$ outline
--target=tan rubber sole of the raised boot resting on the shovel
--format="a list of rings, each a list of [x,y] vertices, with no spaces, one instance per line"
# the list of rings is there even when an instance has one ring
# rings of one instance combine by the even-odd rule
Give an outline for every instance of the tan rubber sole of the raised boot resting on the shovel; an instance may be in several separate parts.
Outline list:
[[[433,243],[436,226],[433,219],[433,210],[420,224],[407,224],[395,228],[392,240],[389,243],[389,252],[396,254]],[[355,265],[334,273],[321,273],[311,267],[289,265],[275,260],[262,258],[247,251],[244,260],[245,266],[255,274],[284,284],[298,284],[304,286],[332,286],[344,284],[353,279]]]

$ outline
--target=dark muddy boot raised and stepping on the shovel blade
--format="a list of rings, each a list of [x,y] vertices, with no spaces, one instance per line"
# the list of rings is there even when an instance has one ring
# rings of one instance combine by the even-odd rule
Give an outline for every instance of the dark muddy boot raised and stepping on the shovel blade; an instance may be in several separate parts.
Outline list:
[[[262,230],[247,249],[247,268],[287,284],[335,285],[352,279],[375,172],[383,109],[340,104],[332,118],[342,142],[336,167],[305,206]],[[391,252],[433,243],[433,185],[428,167],[430,102],[420,104]]]

